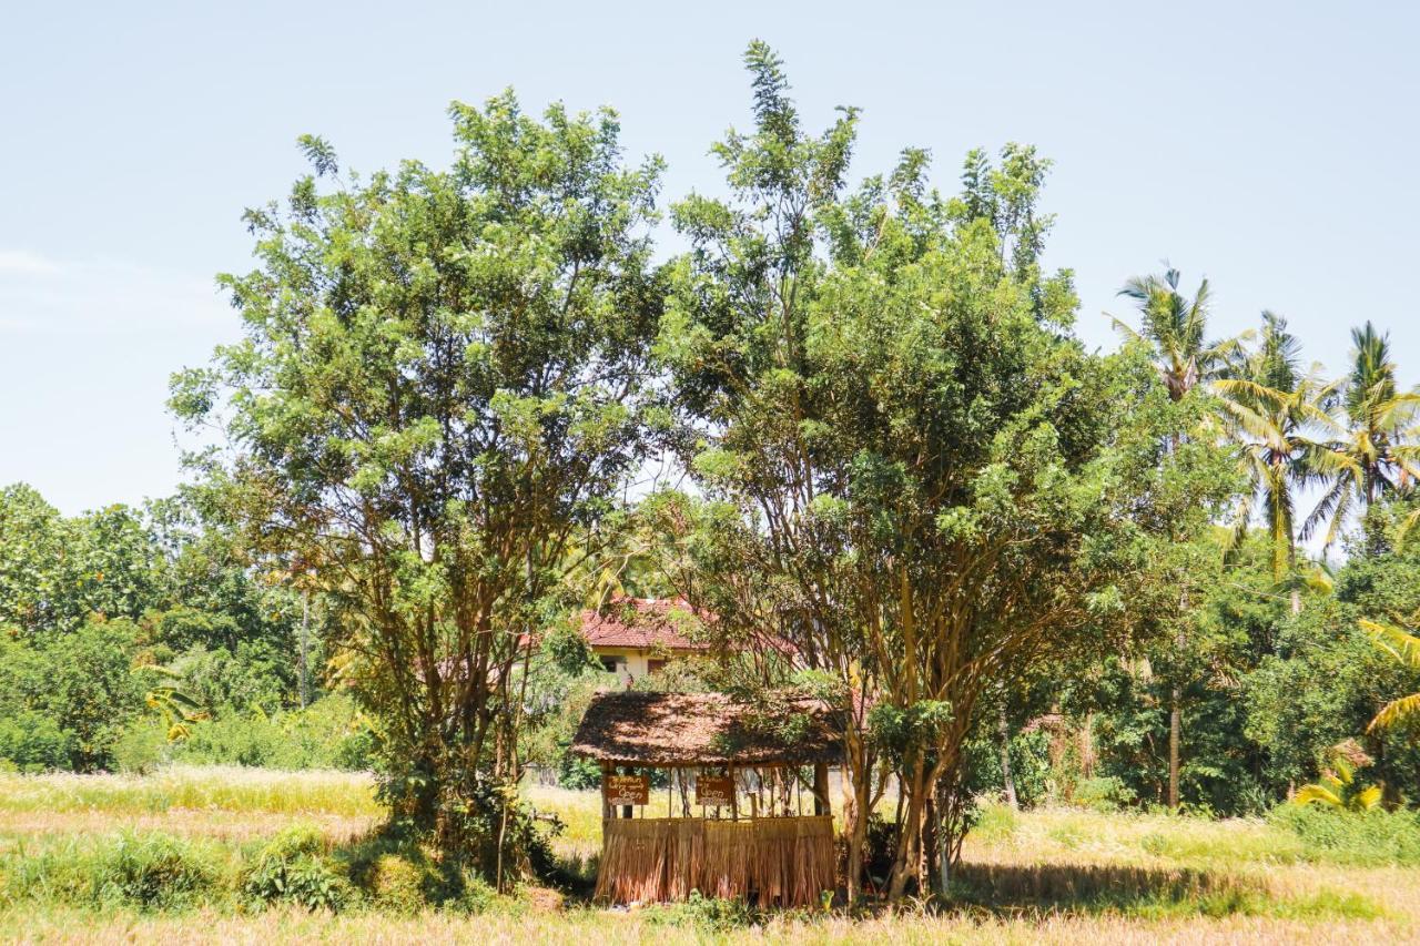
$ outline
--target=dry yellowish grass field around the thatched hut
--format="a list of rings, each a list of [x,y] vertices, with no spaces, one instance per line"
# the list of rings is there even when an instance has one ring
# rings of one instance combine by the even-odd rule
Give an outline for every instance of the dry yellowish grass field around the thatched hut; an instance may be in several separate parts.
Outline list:
[[[595,857],[595,795],[532,788],[569,861]],[[149,777],[0,776],[0,937],[10,942],[1156,943],[1420,942],[1420,868],[1363,866],[1261,820],[1048,808],[985,812],[944,913],[746,916],[604,910],[530,892],[477,913],[341,913],[197,901],[180,909],[75,899],[65,878],[105,845],[175,838],[219,874],[293,825],[349,844],[378,818],[368,778],[175,768]],[[70,865],[65,868],[65,865]],[[68,872],[65,872],[68,871]]]

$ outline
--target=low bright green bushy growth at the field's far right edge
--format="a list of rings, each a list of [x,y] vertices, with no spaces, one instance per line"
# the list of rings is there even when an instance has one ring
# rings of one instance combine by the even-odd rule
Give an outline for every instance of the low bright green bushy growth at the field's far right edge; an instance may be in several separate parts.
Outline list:
[[[1306,857],[1358,866],[1420,865],[1420,814],[1414,811],[1336,811],[1284,804],[1268,821],[1296,835]]]

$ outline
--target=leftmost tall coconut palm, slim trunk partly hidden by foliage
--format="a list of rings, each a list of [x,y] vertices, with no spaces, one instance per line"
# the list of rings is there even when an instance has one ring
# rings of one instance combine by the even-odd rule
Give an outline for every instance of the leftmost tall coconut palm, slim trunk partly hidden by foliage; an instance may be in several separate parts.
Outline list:
[[[1181,274],[1169,267],[1163,276],[1132,277],[1119,294],[1135,301],[1140,328],[1113,320],[1126,337],[1152,347],[1159,378],[1174,402],[1187,398],[1200,382],[1211,379],[1237,351],[1237,339],[1208,339],[1208,280],[1198,283],[1193,298],[1179,291]],[[1177,446],[1174,440],[1173,446]],[[1180,537],[1181,540],[1181,537]],[[1189,589],[1179,599],[1180,621],[1176,646],[1184,648],[1181,615],[1189,611]],[[1179,807],[1179,753],[1183,743],[1183,693],[1177,682],[1169,696],[1169,807]]]

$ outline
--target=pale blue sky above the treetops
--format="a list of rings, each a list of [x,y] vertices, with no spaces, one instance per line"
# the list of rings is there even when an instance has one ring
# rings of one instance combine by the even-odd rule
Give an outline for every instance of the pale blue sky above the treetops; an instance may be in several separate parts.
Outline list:
[[[784,57],[805,126],[862,109],[855,175],[929,148],[1055,163],[1047,264],[1076,331],[1169,260],[1231,335],[1269,308],[1339,372],[1390,332],[1420,379],[1420,4],[1384,3],[115,3],[11,4],[0,27],[0,486],[67,514],[180,480],[170,372],[239,334],[213,277],[251,268],[247,206],[281,197],[302,132],[369,172],[452,155],[446,108],[514,87],[622,116],[665,200],[719,193],[746,128],[741,54]]]

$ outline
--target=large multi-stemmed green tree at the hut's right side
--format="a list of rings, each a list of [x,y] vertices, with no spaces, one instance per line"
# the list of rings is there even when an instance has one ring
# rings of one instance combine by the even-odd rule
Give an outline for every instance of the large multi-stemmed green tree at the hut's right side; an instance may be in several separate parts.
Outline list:
[[[807,135],[777,57],[747,61],[755,128],[717,148],[728,199],[674,207],[692,250],[660,344],[711,541],[734,550],[700,578],[726,589],[706,595],[731,607],[723,628],[760,621],[834,676],[851,754],[873,706],[866,740],[906,798],[899,896],[923,862],[946,879],[987,695],[1118,646],[1160,599],[1160,540],[1230,477],[1180,476],[1217,457],[1164,450],[1191,405],[1137,348],[1071,335],[1069,274],[1039,273],[1031,149],[974,155],[956,200],[917,151],[849,192],[853,112]]]

